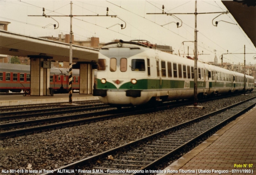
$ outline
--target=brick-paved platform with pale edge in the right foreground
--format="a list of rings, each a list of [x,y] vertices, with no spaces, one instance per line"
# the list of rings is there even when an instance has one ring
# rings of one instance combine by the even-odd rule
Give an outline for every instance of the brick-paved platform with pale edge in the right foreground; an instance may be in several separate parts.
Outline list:
[[[255,174],[255,128],[256,107],[236,118],[170,164],[164,169],[169,173],[159,173],[158,175]]]

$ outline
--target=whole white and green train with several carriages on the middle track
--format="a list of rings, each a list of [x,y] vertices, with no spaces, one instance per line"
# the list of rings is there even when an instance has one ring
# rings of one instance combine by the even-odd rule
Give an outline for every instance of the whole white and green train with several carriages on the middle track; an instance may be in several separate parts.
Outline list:
[[[243,91],[244,74],[197,62],[200,96]],[[246,75],[246,91],[254,78]],[[194,96],[194,60],[154,49],[149,42],[107,43],[100,49],[94,96],[112,106]]]

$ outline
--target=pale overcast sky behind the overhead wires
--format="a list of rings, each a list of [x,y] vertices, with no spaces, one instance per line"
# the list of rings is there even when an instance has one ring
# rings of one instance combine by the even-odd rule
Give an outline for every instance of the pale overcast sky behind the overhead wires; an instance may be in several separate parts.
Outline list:
[[[147,40],[154,44],[172,46],[175,54],[183,57],[193,53],[194,43],[184,41],[194,41],[195,15],[177,14],[182,20],[182,26],[177,28],[176,23],[181,21],[173,16],[166,14],[146,14],[162,13],[194,13],[195,1],[187,0],[80,0],[73,2],[73,15],[106,15],[109,8],[109,15],[117,15],[118,18],[111,16],[104,17],[74,17],[72,30],[75,40],[88,40],[91,37],[99,37],[100,42],[111,42],[114,39]],[[0,20],[11,22],[8,31],[30,35],[30,36],[53,36],[58,34],[69,34],[69,17],[52,17],[59,22],[59,28],[54,29],[52,24],[57,24],[51,18],[30,17],[28,15],[42,15],[43,7],[46,15],[69,15],[70,1],[66,0],[0,0]],[[225,12],[226,7],[219,0],[198,0],[197,12]],[[197,15],[198,30],[198,51],[205,55],[199,55],[203,61],[214,61],[214,54],[219,57],[223,53],[256,53],[256,48],[251,40],[244,33],[243,29],[237,24],[231,14],[199,14]],[[216,19],[214,19],[217,17]],[[122,19],[122,20],[121,20]],[[219,22],[218,27],[212,25],[212,19]],[[125,23],[126,22],[126,27]],[[173,23],[171,23],[173,22]],[[167,24],[170,23],[170,24]],[[230,24],[235,23],[235,24]],[[123,24],[125,29],[121,29]],[[167,24],[167,25],[165,25]],[[237,25],[236,25],[237,24]],[[164,26],[163,26],[164,25]],[[48,26],[48,27],[47,27]],[[113,27],[111,27],[113,26]],[[163,26],[163,27],[162,27]],[[184,45],[182,44],[184,42]],[[246,64],[256,64],[253,56],[246,55]],[[192,56],[192,55],[190,55]],[[223,55],[223,62],[231,64],[244,64],[243,54]],[[193,57],[193,56],[192,56]],[[255,56],[254,56],[255,57]]]

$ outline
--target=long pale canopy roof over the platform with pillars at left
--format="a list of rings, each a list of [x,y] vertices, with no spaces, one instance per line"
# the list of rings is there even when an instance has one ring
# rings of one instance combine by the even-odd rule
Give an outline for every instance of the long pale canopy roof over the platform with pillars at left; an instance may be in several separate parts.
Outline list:
[[[73,45],[72,62],[96,62],[98,49]],[[0,54],[28,57],[44,55],[69,62],[69,44],[0,30]]]

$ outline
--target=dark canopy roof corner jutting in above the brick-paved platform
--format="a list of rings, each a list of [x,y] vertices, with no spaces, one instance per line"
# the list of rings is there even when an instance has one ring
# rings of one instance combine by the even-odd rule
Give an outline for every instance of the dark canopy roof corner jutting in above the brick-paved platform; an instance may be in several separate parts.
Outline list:
[[[256,0],[221,1],[256,47]]]

